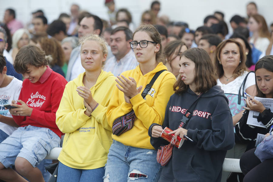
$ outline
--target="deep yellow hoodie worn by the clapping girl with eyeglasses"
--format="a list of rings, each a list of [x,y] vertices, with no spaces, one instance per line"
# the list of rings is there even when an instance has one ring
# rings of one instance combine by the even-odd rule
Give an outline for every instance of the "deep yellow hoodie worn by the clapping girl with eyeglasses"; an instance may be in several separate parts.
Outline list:
[[[140,92],[142,93],[155,73],[163,69],[167,70],[167,67],[160,62],[153,71],[145,75],[142,75],[140,66],[137,66],[136,69],[125,71],[122,75],[126,78],[129,76],[133,77],[136,80],[137,87],[143,86]],[[116,118],[123,116],[132,109],[136,114],[136,119],[131,130],[122,133],[120,136],[112,134],[113,139],[127,146],[154,149],[150,144],[148,129],[152,123],[162,125],[167,102],[174,93],[173,85],[175,81],[175,76],[171,72],[162,72],[147,94],[146,100],[139,93],[130,99],[131,104],[125,102],[123,92],[115,87],[106,111],[109,125],[112,126]]]

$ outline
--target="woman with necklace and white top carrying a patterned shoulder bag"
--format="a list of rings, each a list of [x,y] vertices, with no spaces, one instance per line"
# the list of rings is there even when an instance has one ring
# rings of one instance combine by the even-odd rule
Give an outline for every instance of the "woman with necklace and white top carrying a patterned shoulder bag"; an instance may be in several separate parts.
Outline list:
[[[229,100],[228,105],[232,114],[233,126],[235,126],[244,112],[242,108],[245,106],[244,92],[256,95],[255,74],[247,71],[243,48],[234,39],[221,42],[216,48],[215,55],[217,85],[221,86]],[[226,158],[239,159],[246,150],[245,144],[236,141],[235,136],[235,147],[227,151]],[[223,173],[222,181],[227,179],[228,174]]]

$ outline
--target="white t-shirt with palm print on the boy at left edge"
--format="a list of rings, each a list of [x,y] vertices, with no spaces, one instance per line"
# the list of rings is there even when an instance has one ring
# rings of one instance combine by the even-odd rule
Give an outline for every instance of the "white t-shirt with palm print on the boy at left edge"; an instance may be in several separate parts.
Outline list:
[[[3,116],[12,117],[9,111],[5,110],[4,105],[11,104],[12,100],[17,100],[19,98],[23,82],[13,76],[9,77],[12,77],[13,79],[8,86],[0,88],[0,114]],[[16,129],[17,127],[9,126],[0,122],[0,130],[4,131],[8,135],[11,135]]]

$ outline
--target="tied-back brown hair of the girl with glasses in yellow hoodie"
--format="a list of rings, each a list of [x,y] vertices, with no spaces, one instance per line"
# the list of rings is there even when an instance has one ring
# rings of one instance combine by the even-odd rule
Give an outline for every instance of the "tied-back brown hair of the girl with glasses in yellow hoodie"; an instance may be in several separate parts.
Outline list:
[[[153,42],[157,42],[157,44],[160,45],[159,51],[156,53],[156,61],[157,62],[163,62],[165,64],[165,57],[164,57],[164,52],[161,44],[161,37],[157,29],[153,25],[142,25],[136,29],[136,31],[133,33],[133,38],[136,32],[146,32]]]

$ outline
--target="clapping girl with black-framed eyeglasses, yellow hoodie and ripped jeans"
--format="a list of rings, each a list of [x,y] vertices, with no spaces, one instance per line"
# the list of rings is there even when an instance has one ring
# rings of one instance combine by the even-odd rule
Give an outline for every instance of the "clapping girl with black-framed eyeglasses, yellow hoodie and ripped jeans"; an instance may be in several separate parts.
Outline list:
[[[143,89],[153,76],[167,70],[160,34],[153,25],[143,25],[136,29],[130,42],[139,66],[123,72],[116,79],[116,88],[106,111],[107,121],[113,126],[114,120],[134,111],[135,119],[130,130],[119,136],[112,134],[105,168],[104,181],[141,180],[157,181],[160,164],[157,150],[150,144],[148,128],[152,123],[163,124],[165,108],[174,93],[172,86],[176,79],[168,71],[163,71],[144,97]]]

